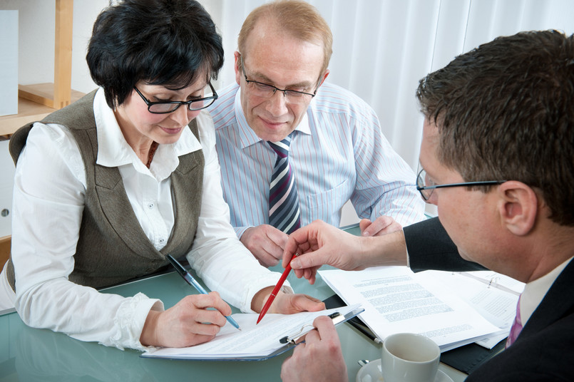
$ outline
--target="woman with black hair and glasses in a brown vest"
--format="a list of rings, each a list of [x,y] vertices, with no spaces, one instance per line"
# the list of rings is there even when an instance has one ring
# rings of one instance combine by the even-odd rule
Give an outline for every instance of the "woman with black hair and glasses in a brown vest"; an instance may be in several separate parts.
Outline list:
[[[230,227],[212,120],[200,111],[217,98],[221,38],[196,1],[126,0],[98,16],[86,58],[100,88],[11,139],[12,250],[0,289],[26,324],[83,341],[209,341],[231,314],[215,292],[164,311],[143,294],[96,288],[153,273],[165,254],[187,255],[243,311],[260,311],[277,282]],[[323,308],[285,291],[274,311]]]

